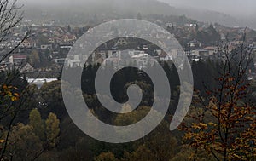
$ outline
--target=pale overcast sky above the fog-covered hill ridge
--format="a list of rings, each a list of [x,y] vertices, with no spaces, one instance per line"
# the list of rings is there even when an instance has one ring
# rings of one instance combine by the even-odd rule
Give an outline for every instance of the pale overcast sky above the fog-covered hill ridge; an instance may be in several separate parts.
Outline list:
[[[98,0],[19,0],[20,3],[49,3],[60,4],[63,2],[69,4],[76,1],[84,2],[98,1]],[[129,1],[129,0],[127,0]],[[159,0],[161,2],[169,3],[172,6],[178,7],[193,7],[199,9],[210,9],[219,11],[230,15],[243,15],[256,17],[256,1],[255,0]]]

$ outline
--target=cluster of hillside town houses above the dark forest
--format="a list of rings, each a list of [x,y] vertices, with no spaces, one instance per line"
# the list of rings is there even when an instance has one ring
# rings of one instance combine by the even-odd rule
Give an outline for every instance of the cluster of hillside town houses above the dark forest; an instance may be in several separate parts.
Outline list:
[[[229,28],[219,26],[218,24],[214,24],[213,26],[193,20],[177,23],[172,20],[164,19],[165,17],[159,16],[156,20],[160,26],[166,28],[166,32],[162,34],[155,29],[144,26],[147,31],[145,33],[140,31],[124,31],[127,37],[119,37],[111,43],[96,43],[96,45],[102,46],[91,55],[87,63],[103,63],[105,66],[111,65],[116,67],[125,66],[127,63],[136,63],[137,66],[145,67],[152,64],[149,55],[154,55],[155,60],[168,61],[175,60],[181,52],[183,52],[190,61],[208,59],[223,60],[224,49],[218,47],[221,40],[232,40],[228,43],[228,52],[236,49],[237,44],[242,43],[241,36],[244,31],[242,28]],[[151,20],[151,18],[148,17],[148,20]],[[30,23],[30,25],[27,25],[27,23]],[[28,28],[31,31],[30,35],[21,43],[26,29]],[[247,30],[252,34],[254,33],[250,29]],[[209,34],[211,31],[214,32],[214,34]],[[10,33],[8,41],[0,43],[0,56],[14,49],[15,45],[20,43],[20,46],[15,49],[14,54],[0,63],[0,70],[3,71],[15,67],[20,70],[22,69],[21,72],[32,72],[40,69],[57,71],[64,65],[70,67],[84,66],[84,60],[89,59],[86,55],[73,55],[69,58],[66,58],[66,56],[73,48],[73,44],[76,40],[85,32],[93,32],[93,26],[55,26],[55,23],[51,21],[45,22],[44,24],[36,24],[32,21],[26,22],[26,24],[16,27]],[[104,38],[113,37],[116,32],[119,31],[113,29],[111,32],[104,35]],[[183,51],[173,49],[170,53],[166,54],[162,49],[155,48],[154,44],[144,44],[141,42],[138,42],[140,44],[136,44],[137,42],[131,42],[131,40],[133,40],[131,37],[141,36],[161,39],[166,38],[166,33],[172,33],[172,35],[177,38],[183,47]],[[247,34],[250,40],[248,48],[256,51],[256,41],[252,34]],[[199,35],[201,36],[199,37]],[[217,38],[219,41],[213,41],[213,43],[204,41],[207,39],[207,36],[214,37],[215,35],[219,35]],[[93,45],[90,44],[90,41],[84,42],[84,44],[85,43]],[[161,47],[167,46],[164,41],[160,41],[159,43]],[[121,49],[130,47],[132,47],[133,50],[121,51]],[[33,59],[35,61],[33,61]],[[28,64],[28,62],[31,64]]]

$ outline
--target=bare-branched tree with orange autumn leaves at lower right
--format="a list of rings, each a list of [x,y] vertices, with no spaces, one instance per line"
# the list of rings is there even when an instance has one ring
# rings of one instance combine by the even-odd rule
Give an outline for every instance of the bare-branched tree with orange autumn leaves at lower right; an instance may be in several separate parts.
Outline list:
[[[185,132],[184,143],[195,149],[191,157],[194,160],[202,159],[201,152],[216,160],[256,158],[256,108],[247,101],[249,60],[244,59],[245,53],[239,55],[236,61],[227,56],[224,69],[216,79],[218,88],[207,89],[204,97],[195,91],[189,121],[180,127]]]

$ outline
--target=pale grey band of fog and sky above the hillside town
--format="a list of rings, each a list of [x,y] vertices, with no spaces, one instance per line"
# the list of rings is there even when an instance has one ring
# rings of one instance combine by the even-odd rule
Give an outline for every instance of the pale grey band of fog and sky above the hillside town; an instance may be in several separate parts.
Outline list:
[[[33,20],[45,19],[46,17],[42,17],[42,14],[48,14],[48,18],[50,16],[50,18],[60,21],[86,21],[93,19],[94,14],[106,14],[106,18],[109,15],[113,15],[112,18],[134,18],[137,13],[184,14],[193,20],[217,22],[225,26],[256,28],[252,0],[243,1],[244,3],[241,3],[241,0],[211,3],[205,3],[202,0],[160,1],[165,3],[156,0],[22,0],[20,3],[26,6],[26,18]],[[243,4],[241,5],[242,9],[238,8],[239,4]],[[247,9],[245,8],[247,6],[250,7]]]

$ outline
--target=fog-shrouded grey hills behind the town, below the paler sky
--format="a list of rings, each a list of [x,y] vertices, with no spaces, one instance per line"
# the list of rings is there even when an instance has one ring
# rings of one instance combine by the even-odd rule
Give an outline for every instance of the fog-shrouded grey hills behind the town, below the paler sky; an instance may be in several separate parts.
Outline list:
[[[84,24],[98,19],[134,18],[141,14],[186,15],[204,22],[225,26],[249,26],[256,28],[256,23],[238,20],[228,14],[207,9],[189,9],[172,7],[157,0],[20,0],[25,5],[26,19],[55,20],[61,23]],[[255,25],[255,26],[254,26]]]

